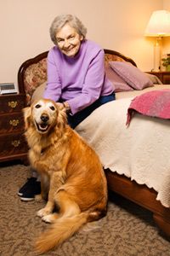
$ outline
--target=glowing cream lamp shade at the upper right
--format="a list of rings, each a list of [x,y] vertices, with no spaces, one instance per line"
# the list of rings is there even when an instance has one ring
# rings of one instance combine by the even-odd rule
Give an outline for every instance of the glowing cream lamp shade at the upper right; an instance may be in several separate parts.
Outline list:
[[[150,16],[144,35],[146,37],[170,36],[170,12],[167,10],[154,11]]]

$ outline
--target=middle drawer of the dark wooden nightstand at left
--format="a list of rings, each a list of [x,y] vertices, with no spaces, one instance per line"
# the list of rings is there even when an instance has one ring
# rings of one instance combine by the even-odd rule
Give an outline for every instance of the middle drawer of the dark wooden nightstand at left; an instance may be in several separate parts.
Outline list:
[[[0,134],[23,131],[24,117],[22,113],[10,113],[0,116]]]

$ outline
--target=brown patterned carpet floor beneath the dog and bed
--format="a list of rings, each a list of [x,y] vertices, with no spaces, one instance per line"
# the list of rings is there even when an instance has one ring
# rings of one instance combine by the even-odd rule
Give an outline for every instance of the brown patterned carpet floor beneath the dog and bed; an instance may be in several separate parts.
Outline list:
[[[0,167],[0,255],[34,256],[36,237],[48,228],[36,212],[43,202],[22,202],[18,189],[30,177],[29,166]],[[92,229],[77,234],[47,256],[170,256],[170,242],[151,213],[111,194],[108,212]]]

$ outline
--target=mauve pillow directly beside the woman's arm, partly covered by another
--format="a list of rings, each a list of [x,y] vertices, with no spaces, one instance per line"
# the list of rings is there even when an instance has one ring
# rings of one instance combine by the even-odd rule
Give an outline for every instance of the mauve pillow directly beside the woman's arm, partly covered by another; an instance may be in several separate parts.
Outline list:
[[[106,77],[111,81],[115,92],[133,90],[117,73],[110,67],[108,63],[105,66]]]

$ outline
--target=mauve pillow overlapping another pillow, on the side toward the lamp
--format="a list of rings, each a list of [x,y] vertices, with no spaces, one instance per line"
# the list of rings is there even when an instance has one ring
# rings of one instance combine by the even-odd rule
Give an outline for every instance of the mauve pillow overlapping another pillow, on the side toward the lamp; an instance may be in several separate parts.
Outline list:
[[[127,61],[110,61],[109,64],[134,90],[143,90],[154,85],[144,72]]]

